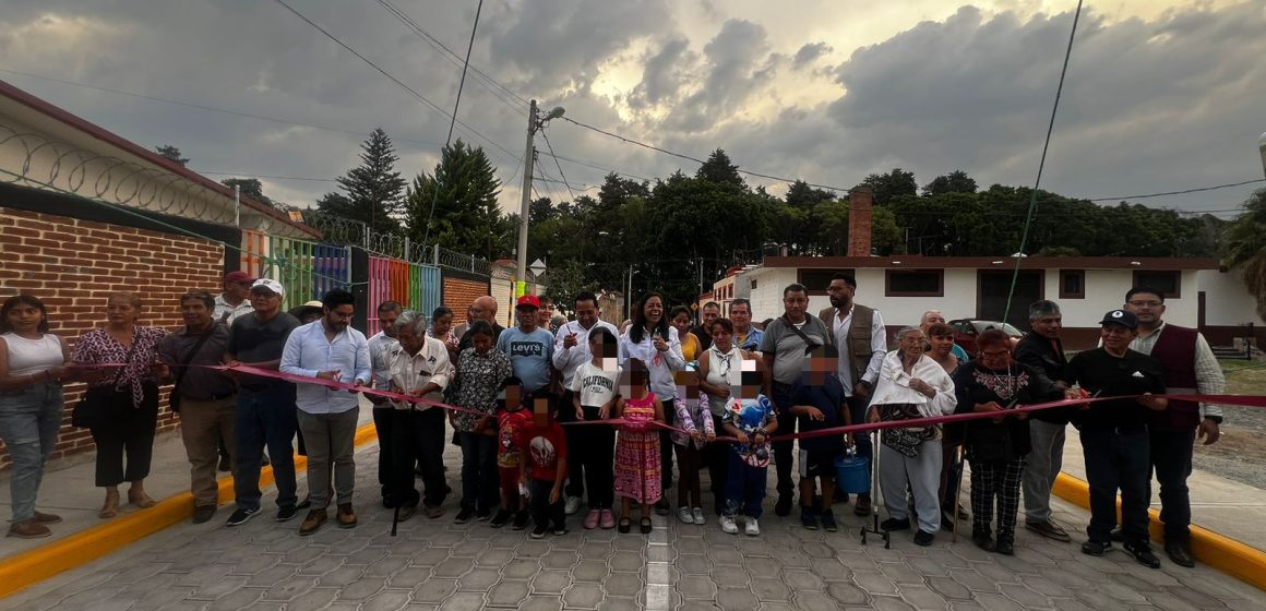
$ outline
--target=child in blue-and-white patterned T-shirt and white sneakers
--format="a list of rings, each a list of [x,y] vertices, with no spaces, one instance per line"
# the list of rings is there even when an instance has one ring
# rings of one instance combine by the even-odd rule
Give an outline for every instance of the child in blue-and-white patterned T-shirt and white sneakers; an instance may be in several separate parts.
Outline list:
[[[779,428],[774,402],[761,393],[761,372],[744,371],[742,386],[732,391],[727,407],[725,433],[738,438],[729,454],[725,481],[725,514],[720,516],[720,529],[738,533],[734,516],[739,510],[747,516],[743,531],[749,536],[761,534],[761,501],[765,500],[765,479],[770,466],[770,435]]]

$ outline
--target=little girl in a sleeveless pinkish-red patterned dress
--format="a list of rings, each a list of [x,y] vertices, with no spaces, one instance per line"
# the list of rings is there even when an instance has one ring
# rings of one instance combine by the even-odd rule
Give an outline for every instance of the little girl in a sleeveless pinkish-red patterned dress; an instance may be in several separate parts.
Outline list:
[[[651,533],[651,503],[663,495],[660,487],[660,431],[651,423],[663,421],[663,404],[651,393],[651,372],[641,359],[628,361],[627,391],[622,385],[615,417],[627,420],[615,443],[615,493],[620,496],[620,533],[633,525],[632,505],[642,510],[643,534]]]

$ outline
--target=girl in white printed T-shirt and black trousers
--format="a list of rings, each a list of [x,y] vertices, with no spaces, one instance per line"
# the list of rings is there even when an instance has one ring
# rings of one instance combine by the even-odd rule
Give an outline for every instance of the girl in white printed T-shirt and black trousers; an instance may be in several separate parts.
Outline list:
[[[571,385],[571,401],[576,407],[576,420],[606,420],[611,417],[619,397],[620,368],[615,359],[615,334],[604,326],[589,331],[589,353],[592,361],[580,366]],[[585,488],[589,490],[589,515],[582,526],[586,530],[601,526],[615,528],[611,503],[615,501],[613,468],[615,463],[615,428],[591,424],[572,430],[576,441],[571,458],[581,463]]]

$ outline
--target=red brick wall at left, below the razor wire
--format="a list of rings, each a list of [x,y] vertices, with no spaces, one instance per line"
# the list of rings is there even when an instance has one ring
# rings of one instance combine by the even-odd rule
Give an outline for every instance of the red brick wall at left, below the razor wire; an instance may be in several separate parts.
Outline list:
[[[105,301],[132,291],[144,301],[139,324],[176,329],[179,299],[187,290],[218,292],[224,248],[216,243],[129,226],[0,206],[0,300],[30,293],[48,306],[53,333],[72,345],[105,323]],[[66,387],[66,416],[53,458],[94,448],[87,429],[70,425],[82,385]],[[166,397],[166,392],[165,392]],[[160,434],[176,429],[166,398]],[[0,468],[9,453],[0,445]]]

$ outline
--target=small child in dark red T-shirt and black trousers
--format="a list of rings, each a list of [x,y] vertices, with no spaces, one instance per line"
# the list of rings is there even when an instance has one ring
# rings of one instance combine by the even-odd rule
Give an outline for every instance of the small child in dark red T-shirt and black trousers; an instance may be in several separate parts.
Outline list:
[[[519,482],[528,487],[533,539],[553,530],[566,535],[562,483],[567,479],[567,440],[544,397],[532,400],[532,424],[524,430],[527,453],[519,460]]]

